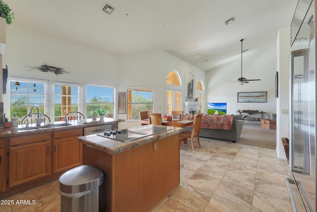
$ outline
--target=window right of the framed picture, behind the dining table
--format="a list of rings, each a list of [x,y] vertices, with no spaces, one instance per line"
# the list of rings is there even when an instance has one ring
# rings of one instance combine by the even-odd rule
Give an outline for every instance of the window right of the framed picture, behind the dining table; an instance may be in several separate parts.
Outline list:
[[[140,119],[140,111],[153,113],[153,89],[128,88],[127,97],[127,120]]]

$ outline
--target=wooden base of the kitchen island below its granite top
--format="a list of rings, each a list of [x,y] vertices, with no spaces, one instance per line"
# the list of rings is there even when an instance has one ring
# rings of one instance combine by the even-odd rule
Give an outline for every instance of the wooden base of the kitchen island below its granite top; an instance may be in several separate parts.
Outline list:
[[[179,134],[116,154],[84,144],[83,162],[105,173],[99,211],[151,211],[179,185]]]

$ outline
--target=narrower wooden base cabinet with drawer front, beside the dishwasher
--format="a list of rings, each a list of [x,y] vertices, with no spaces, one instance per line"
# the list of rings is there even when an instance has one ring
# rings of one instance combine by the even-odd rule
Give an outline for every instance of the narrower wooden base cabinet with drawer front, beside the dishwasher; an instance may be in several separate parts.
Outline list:
[[[53,173],[82,165],[82,135],[82,128],[53,133]]]

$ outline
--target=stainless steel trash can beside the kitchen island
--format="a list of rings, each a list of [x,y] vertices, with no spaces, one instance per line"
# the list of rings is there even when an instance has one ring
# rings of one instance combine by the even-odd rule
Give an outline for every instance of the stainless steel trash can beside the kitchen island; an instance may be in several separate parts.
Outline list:
[[[97,167],[82,165],[59,177],[61,212],[98,212],[99,186],[104,173]]]

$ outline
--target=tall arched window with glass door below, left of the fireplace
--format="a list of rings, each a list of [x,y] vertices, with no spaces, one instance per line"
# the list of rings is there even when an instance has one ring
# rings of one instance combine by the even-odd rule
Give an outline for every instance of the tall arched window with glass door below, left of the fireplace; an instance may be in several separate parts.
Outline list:
[[[171,113],[173,110],[182,110],[182,91],[180,90],[181,80],[176,71],[169,71],[166,77],[167,86],[165,89],[166,98],[166,113]]]

